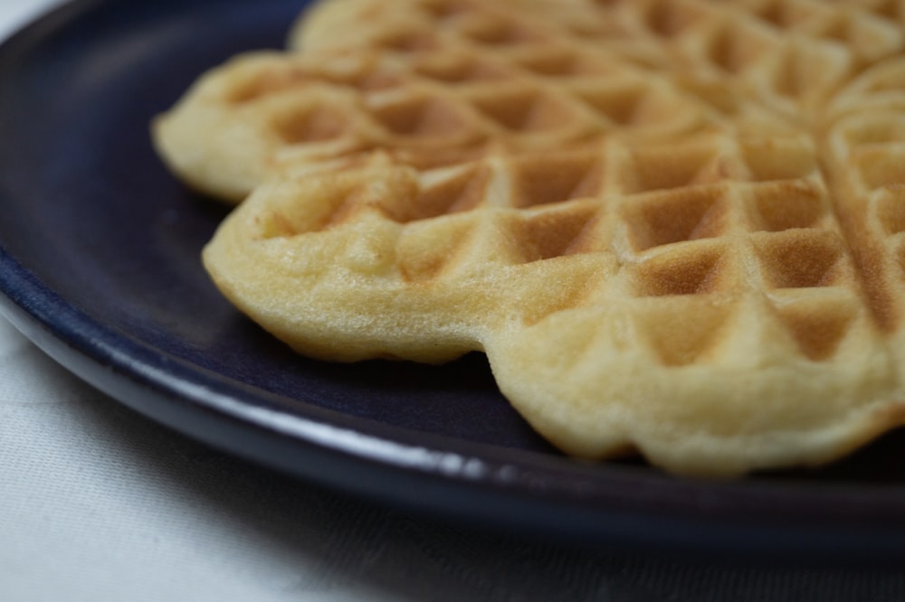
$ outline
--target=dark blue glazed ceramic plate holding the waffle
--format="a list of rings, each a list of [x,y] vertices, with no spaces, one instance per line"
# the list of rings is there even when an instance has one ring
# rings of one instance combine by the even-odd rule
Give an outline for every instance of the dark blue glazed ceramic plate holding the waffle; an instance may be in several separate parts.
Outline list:
[[[598,546],[876,558],[905,551],[905,440],[732,483],[560,456],[475,354],[300,358],[198,252],[225,214],[157,161],[148,120],[304,2],[76,0],[0,48],[0,308],[71,371],[211,445],[383,503]]]

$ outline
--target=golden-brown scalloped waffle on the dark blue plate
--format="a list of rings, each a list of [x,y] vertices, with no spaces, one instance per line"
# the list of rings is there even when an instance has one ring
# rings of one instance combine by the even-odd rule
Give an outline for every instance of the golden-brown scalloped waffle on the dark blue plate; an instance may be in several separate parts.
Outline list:
[[[905,8],[512,5],[326,2],[189,92],[170,123],[304,99],[335,134],[255,150],[224,295],[329,361],[482,351],[583,458],[741,475],[899,426]]]

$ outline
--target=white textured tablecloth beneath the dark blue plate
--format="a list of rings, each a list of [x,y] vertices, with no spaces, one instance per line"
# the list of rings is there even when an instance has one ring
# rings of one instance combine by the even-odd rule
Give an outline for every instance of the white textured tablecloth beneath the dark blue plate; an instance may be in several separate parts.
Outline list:
[[[54,4],[0,0],[0,37]],[[0,318],[0,601],[800,602],[903,592],[898,569],[576,550],[349,498],[139,417]]]

